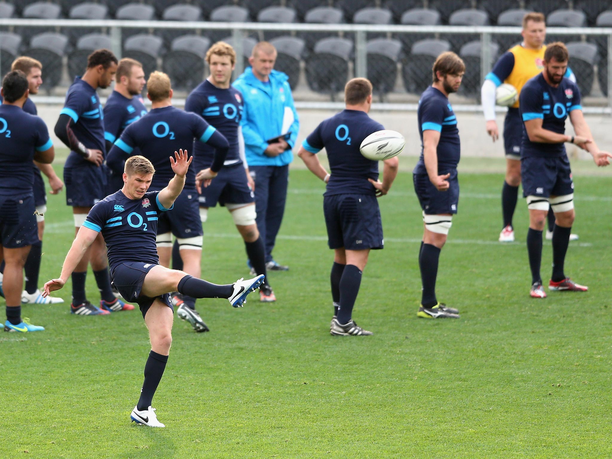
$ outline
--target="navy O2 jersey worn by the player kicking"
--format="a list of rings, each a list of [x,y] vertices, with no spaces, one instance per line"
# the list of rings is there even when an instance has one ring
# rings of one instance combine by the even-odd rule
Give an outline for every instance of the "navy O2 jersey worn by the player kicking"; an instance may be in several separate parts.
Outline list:
[[[159,264],[155,236],[157,218],[166,209],[159,202],[159,191],[144,193],[131,200],[121,190],[95,203],[83,226],[102,232],[108,249],[111,272],[120,263]]]

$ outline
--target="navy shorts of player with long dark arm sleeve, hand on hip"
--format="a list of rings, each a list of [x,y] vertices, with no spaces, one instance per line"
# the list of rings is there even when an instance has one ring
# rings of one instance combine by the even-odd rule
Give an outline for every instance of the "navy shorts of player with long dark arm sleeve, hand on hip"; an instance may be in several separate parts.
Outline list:
[[[78,207],[93,207],[106,196],[106,171],[102,166],[86,164],[64,168],[66,204]]]

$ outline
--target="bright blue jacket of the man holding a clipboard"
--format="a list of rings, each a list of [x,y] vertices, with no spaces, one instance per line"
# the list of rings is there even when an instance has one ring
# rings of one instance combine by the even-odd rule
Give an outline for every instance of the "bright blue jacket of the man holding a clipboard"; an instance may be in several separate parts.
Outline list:
[[[272,70],[270,83],[262,83],[253,75],[251,67],[247,67],[233,83],[244,99],[241,126],[249,166],[284,166],[293,161],[291,149],[274,158],[264,154],[268,146],[266,140],[283,134],[285,107],[293,111],[294,117],[289,127],[291,135],[286,141],[291,148],[296,143],[300,123],[288,79],[286,73]]]

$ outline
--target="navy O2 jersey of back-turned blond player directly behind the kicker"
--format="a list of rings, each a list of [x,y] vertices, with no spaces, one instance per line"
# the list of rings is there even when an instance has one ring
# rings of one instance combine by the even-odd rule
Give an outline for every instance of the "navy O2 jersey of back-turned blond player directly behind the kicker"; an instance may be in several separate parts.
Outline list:
[[[206,142],[214,132],[215,128],[195,113],[188,113],[173,106],[154,108],[125,128],[111,149],[108,163],[116,161],[116,154],[133,154],[137,147],[140,154],[149,159],[155,167],[151,187],[161,189],[174,177],[170,156],[174,157],[174,152],[179,149],[187,150],[191,155],[193,139]],[[116,149],[121,149],[122,152],[117,152]],[[192,164],[185,176],[185,188],[195,187],[195,174],[196,168]]]

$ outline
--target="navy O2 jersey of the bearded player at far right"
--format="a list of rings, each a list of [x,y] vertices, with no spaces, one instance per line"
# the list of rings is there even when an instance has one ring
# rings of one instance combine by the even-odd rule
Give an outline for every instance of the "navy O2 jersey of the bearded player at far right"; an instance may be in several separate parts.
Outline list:
[[[543,129],[558,134],[565,133],[565,119],[572,110],[582,110],[580,90],[576,83],[563,78],[559,86],[553,88],[540,73],[523,86],[519,109],[523,122],[542,119]],[[523,129],[521,157],[560,157],[565,155],[564,143],[540,143],[529,140],[527,130]]]

